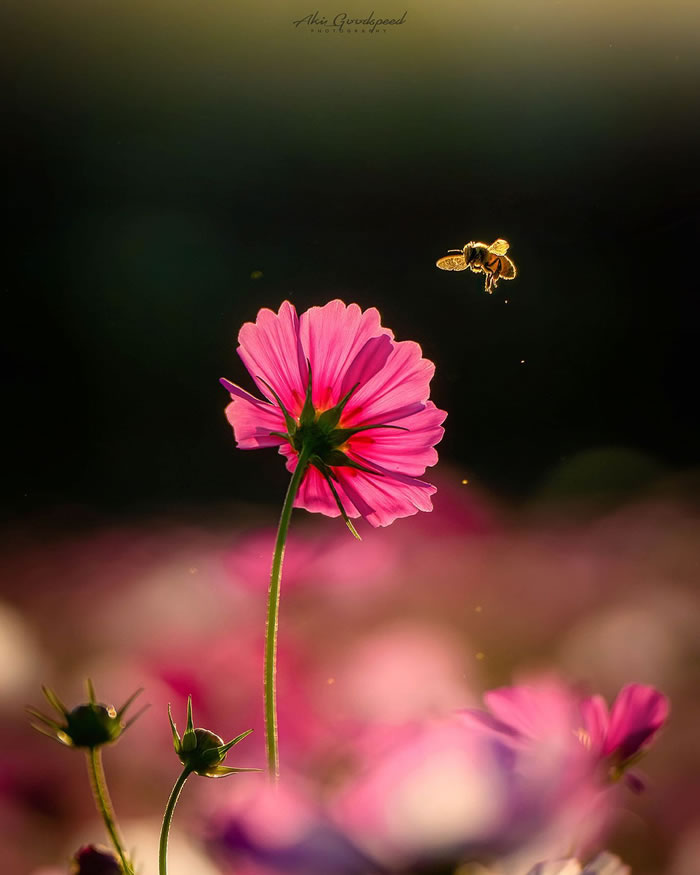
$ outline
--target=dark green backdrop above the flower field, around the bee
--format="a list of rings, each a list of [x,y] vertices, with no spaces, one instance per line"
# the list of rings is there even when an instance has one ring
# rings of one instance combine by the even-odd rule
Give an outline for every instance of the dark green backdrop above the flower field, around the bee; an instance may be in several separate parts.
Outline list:
[[[498,493],[697,464],[700,12],[618,6],[5,3],[10,509],[279,501],[217,380],[285,298],[418,340],[442,458]],[[492,297],[434,267],[496,237]]]

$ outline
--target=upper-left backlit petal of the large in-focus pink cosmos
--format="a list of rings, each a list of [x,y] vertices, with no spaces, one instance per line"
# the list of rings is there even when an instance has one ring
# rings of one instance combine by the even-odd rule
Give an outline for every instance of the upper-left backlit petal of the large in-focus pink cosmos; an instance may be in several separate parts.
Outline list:
[[[299,341],[299,318],[294,306],[285,301],[279,313],[263,309],[255,322],[246,322],[238,334],[238,355],[270,401],[270,386],[292,416],[298,416],[304,403],[308,372]]]

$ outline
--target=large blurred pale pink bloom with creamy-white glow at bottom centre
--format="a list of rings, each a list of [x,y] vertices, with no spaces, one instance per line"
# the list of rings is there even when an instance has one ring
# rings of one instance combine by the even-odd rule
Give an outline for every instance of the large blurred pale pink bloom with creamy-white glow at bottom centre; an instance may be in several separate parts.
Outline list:
[[[335,820],[392,871],[500,848],[513,826],[512,757],[452,718],[376,727],[356,760],[332,804]]]

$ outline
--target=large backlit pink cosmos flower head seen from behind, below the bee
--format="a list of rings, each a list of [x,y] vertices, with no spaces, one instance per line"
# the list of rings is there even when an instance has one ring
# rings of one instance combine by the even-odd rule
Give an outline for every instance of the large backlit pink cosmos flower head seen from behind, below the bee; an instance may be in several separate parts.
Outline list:
[[[335,300],[297,316],[285,301],[238,336],[238,354],[262,399],[222,379],[237,446],[278,447],[294,471],[308,465],[296,507],[386,526],[432,510],[418,479],[437,462],[447,415],[428,400],[435,366],[397,342],[375,308]]]

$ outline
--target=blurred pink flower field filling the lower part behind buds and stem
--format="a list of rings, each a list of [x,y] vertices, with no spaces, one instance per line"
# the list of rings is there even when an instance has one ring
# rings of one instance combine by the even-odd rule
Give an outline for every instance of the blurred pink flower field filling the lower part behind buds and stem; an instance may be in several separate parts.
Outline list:
[[[295,518],[279,652],[283,785],[275,794],[258,774],[190,781],[173,821],[173,875],[525,875],[603,848],[635,875],[700,871],[697,517],[658,496],[585,514],[516,510],[463,479],[443,467],[432,514],[365,526],[362,543],[337,521]],[[182,719],[192,694],[198,724],[222,738],[252,728],[226,764],[264,768],[275,523],[250,506],[129,524],[73,514],[5,537],[3,871],[57,875],[79,846],[105,842],[81,757],[29,727],[24,706],[39,705],[42,683],[69,705],[88,676],[110,703],[145,687],[151,708],[104,751],[143,875],[157,872],[178,774],[168,703]],[[581,765],[568,758],[585,745],[556,741],[551,715],[567,696],[611,704],[630,683],[671,702],[633,786],[569,786]],[[549,690],[533,712],[549,733],[536,755],[489,733],[465,744],[455,721],[514,684]],[[553,702],[564,711],[549,714]],[[551,871],[575,871],[567,865]]]

